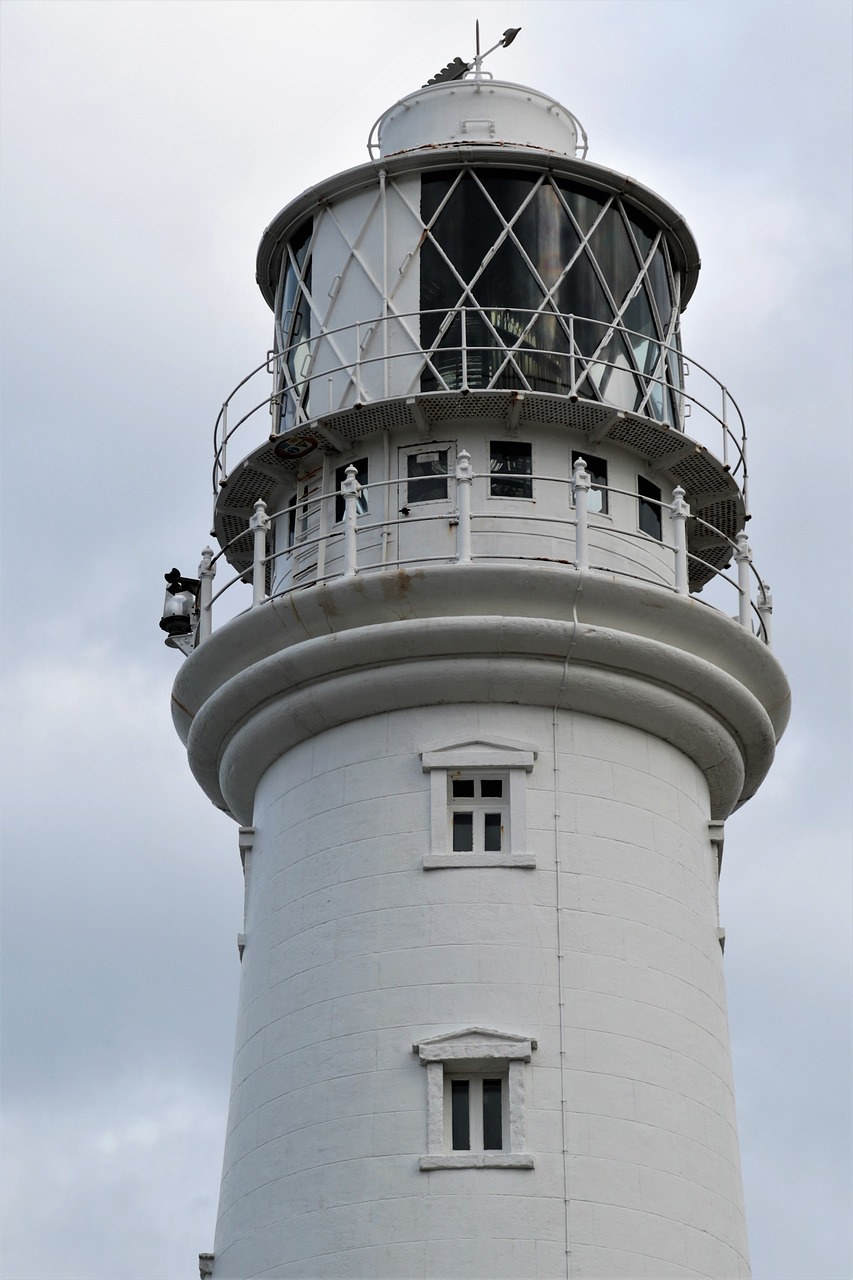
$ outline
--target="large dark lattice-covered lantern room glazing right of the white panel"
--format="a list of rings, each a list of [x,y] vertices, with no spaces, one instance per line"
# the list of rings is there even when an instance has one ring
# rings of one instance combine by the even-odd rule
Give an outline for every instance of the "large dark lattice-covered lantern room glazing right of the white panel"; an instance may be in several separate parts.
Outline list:
[[[423,390],[573,390],[678,421],[669,256],[644,215],[579,183],[466,169],[424,174],[421,216]]]

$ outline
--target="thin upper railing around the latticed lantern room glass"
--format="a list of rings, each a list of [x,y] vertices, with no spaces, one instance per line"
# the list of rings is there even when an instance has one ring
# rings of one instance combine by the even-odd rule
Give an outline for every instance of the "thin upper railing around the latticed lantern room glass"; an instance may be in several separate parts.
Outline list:
[[[679,431],[689,419],[690,436],[721,458],[748,500],[743,415],[702,364],[615,323],[508,307],[378,316],[268,352],[216,417],[214,495],[228,477],[234,436],[263,411],[272,416],[263,435],[277,436],[353,406],[473,390],[592,401]]]

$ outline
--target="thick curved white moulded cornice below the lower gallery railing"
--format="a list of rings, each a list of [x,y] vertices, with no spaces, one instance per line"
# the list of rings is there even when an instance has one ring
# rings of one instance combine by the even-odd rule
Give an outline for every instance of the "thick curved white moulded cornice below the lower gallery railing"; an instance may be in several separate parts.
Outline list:
[[[652,732],[702,769],[712,815],[725,818],[767,773],[788,700],[766,646],[690,598],[539,564],[470,564],[337,580],[242,614],[187,660],[173,714],[199,783],[243,823],[264,771],[314,733],[478,701]]]

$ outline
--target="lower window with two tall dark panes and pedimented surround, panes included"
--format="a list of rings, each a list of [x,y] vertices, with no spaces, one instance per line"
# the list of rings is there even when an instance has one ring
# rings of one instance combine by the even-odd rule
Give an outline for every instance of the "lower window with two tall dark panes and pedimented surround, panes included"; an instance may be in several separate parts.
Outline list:
[[[421,1170],[533,1169],[525,1147],[529,1037],[467,1027],[414,1044],[426,1068]]]

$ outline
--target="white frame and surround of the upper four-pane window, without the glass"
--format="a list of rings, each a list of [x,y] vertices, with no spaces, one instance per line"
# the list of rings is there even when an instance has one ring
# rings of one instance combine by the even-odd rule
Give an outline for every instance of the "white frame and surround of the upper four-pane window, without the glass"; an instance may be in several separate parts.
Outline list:
[[[529,742],[508,739],[453,742],[421,751],[424,773],[430,778],[430,847],[424,856],[424,869],[448,867],[535,867],[528,850],[526,788],[537,753]],[[456,778],[500,777],[505,781],[503,796],[491,812],[505,814],[502,849],[487,852],[453,852],[453,810],[465,808],[455,801],[451,782]],[[482,800],[475,806],[485,810]]]

